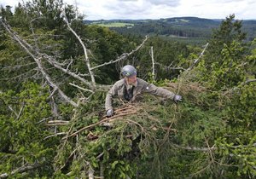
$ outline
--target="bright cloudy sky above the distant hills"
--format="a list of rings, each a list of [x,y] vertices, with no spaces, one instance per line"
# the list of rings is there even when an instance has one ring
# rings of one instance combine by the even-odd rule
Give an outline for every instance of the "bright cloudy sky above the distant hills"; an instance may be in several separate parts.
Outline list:
[[[15,7],[27,0],[1,0]],[[195,16],[224,19],[235,14],[239,20],[256,20],[255,0],[63,0],[77,6],[87,20],[160,19]]]

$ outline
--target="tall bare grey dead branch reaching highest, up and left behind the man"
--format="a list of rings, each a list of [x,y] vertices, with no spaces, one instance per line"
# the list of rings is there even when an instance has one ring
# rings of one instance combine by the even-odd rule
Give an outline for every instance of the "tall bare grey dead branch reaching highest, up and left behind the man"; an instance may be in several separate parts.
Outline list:
[[[64,19],[64,21],[65,21],[66,24],[67,24],[67,28],[68,28],[71,32],[73,32],[73,35],[74,35],[76,38],[78,38],[79,43],[82,45],[82,47],[83,47],[83,49],[84,49],[84,57],[85,57],[84,61],[85,61],[85,63],[86,63],[86,66],[87,66],[87,68],[88,68],[88,71],[89,71],[89,73],[90,73],[91,82],[92,82],[93,86],[96,87],[96,82],[95,82],[95,78],[94,78],[94,73],[91,71],[91,68],[90,68],[90,61],[89,61],[89,58],[88,58],[88,55],[87,55],[87,49],[86,49],[86,47],[85,47],[85,45],[84,45],[84,42],[83,42],[82,39],[79,37],[79,35],[78,35],[76,32],[73,31],[73,28],[70,26],[70,24],[69,24],[69,22],[68,22],[68,20],[67,20],[67,15],[66,15],[66,12],[65,12],[64,9],[62,10],[62,14],[63,14],[63,19]]]

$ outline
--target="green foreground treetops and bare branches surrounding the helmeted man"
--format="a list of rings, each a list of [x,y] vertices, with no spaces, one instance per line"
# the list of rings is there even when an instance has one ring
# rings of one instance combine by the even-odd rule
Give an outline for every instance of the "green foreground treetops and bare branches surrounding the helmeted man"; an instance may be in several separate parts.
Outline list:
[[[203,46],[88,26],[61,0],[0,16],[0,178],[256,177],[256,39],[235,15]],[[114,99],[107,118],[126,64],[183,101]]]

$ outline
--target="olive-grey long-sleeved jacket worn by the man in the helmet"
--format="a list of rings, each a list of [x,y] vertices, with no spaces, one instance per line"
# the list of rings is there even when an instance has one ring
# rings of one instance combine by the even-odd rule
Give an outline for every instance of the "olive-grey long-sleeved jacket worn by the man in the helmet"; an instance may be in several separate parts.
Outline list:
[[[105,109],[106,111],[113,109],[112,101],[115,96],[119,96],[122,100],[135,101],[138,95],[142,95],[143,93],[158,95],[168,99],[173,99],[175,95],[169,90],[157,87],[154,84],[148,84],[148,82],[141,78],[137,78],[137,84],[131,88],[131,86],[126,84],[125,78],[123,78],[113,84],[112,88],[108,91],[105,100]]]

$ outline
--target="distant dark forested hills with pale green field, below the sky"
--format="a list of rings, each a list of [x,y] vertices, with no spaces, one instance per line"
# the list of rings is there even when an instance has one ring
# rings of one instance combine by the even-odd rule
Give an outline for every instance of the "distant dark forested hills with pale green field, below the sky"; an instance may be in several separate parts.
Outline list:
[[[85,23],[108,26],[109,29],[128,36],[160,36],[186,43],[206,43],[212,30],[218,28],[221,20],[197,17],[175,17],[160,20],[85,20]],[[123,24],[123,26],[116,26]],[[242,20],[242,31],[247,41],[256,37],[256,20]]]

